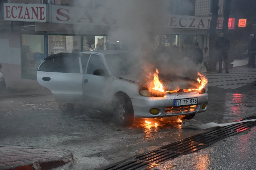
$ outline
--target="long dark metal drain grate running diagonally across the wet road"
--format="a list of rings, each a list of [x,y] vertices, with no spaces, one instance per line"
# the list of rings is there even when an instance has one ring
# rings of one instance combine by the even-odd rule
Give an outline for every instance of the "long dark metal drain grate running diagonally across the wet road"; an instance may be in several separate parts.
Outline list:
[[[244,118],[242,120],[249,119],[256,119],[256,115]],[[253,126],[256,126],[256,121],[229,125],[205,133],[196,134],[192,137],[167,144],[166,146],[152,150],[148,153],[140,154],[139,156],[117,162],[105,168],[101,168],[101,170],[150,169],[181,155],[198,151],[212,143],[220,141],[239,132],[243,132],[249,128],[252,128]]]

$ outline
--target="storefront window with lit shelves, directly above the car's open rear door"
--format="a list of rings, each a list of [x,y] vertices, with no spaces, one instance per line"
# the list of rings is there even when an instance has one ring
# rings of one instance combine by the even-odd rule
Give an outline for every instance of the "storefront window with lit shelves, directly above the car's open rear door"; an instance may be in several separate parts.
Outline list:
[[[81,51],[81,36],[48,35],[48,56]]]

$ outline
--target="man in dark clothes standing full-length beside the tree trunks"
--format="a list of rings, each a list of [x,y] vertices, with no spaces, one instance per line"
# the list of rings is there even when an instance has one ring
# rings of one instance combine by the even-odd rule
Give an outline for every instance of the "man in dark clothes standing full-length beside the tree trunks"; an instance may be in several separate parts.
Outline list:
[[[219,32],[219,38],[216,41],[215,47],[218,51],[218,57],[219,57],[219,71],[218,73],[222,72],[222,59],[224,59],[225,62],[225,69],[226,73],[229,73],[228,71],[228,50],[229,50],[229,40],[224,37],[223,31]]]

